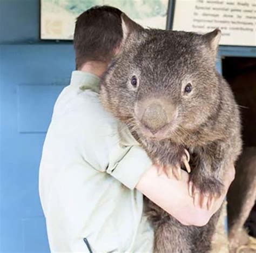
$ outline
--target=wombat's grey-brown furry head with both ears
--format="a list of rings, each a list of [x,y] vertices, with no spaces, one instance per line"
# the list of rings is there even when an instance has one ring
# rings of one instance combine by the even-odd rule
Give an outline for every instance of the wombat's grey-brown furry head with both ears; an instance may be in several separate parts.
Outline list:
[[[206,35],[143,29],[122,15],[123,42],[101,84],[112,114],[146,138],[174,138],[217,110],[220,31]]]

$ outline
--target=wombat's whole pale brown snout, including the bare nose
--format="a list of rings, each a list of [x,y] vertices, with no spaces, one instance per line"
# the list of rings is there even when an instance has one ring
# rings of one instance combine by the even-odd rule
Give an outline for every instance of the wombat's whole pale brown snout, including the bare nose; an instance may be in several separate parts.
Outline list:
[[[172,121],[174,107],[168,101],[150,100],[139,102],[135,111],[140,122],[155,134]]]

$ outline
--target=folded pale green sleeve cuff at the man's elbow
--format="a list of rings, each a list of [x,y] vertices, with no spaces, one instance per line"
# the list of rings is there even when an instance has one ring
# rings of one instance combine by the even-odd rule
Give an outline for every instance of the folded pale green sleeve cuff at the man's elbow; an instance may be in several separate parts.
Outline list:
[[[107,168],[106,172],[123,183],[129,189],[134,189],[142,175],[152,166],[152,162],[142,147],[126,147],[126,154]]]

